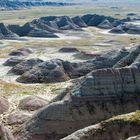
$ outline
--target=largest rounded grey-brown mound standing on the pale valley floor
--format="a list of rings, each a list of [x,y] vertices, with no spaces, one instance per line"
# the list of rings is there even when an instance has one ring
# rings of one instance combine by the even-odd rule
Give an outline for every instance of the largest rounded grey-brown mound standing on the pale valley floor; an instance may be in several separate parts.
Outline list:
[[[18,71],[18,68],[16,69]],[[17,79],[23,83],[50,83],[50,82],[64,82],[69,80],[68,75],[65,73],[62,61],[59,59],[50,60],[38,64],[31,68],[31,70],[22,74]]]

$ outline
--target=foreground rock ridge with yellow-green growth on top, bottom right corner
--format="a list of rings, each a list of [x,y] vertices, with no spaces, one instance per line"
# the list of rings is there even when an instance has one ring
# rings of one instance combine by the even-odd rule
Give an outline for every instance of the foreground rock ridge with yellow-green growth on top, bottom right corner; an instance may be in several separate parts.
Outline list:
[[[135,120],[134,118],[135,117]],[[99,124],[78,130],[61,140],[120,140],[138,135],[140,130],[139,113],[130,113],[111,118]],[[135,122],[133,122],[135,121]],[[140,136],[127,140],[139,140]]]

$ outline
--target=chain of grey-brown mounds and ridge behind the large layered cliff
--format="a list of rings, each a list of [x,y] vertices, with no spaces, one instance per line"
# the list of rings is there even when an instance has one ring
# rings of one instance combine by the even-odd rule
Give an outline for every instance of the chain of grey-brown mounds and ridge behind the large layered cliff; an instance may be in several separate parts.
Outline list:
[[[73,50],[77,51],[70,48],[69,52]],[[70,78],[84,76],[95,69],[111,68],[128,54],[126,49],[116,49],[92,60],[77,63],[60,59],[45,62],[40,59],[29,59],[15,65],[9,73],[21,75],[17,81],[23,83],[64,82]]]

